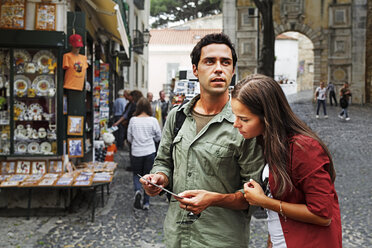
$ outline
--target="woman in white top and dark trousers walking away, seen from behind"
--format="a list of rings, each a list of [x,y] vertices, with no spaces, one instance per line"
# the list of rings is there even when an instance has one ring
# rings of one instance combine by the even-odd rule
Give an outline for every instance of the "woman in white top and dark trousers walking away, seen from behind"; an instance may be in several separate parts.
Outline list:
[[[159,142],[160,138],[160,126],[152,117],[151,104],[146,98],[141,97],[137,102],[134,117],[129,121],[127,138],[131,144],[135,208],[148,210],[150,207],[150,197],[146,194],[142,204],[142,184],[137,174],[150,173],[155,159],[155,142]]]

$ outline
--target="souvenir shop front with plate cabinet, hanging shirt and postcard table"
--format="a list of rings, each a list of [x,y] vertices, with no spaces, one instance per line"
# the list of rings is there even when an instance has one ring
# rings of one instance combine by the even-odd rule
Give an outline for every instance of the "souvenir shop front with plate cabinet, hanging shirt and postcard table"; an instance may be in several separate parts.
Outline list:
[[[17,16],[22,5],[8,2]],[[38,10],[49,19],[38,21]],[[68,206],[79,187],[101,189],[103,199],[116,169],[113,162],[94,162],[92,152],[100,120],[109,117],[110,66],[95,60],[84,14],[67,13],[67,26],[74,23],[67,34],[54,31],[55,14],[55,5],[37,5],[38,30],[24,30],[25,18],[6,22],[1,16],[0,23],[0,208],[25,208],[28,216],[32,208]],[[86,40],[85,61],[70,63],[67,44],[82,48]],[[69,69],[83,76],[78,89],[68,87]]]

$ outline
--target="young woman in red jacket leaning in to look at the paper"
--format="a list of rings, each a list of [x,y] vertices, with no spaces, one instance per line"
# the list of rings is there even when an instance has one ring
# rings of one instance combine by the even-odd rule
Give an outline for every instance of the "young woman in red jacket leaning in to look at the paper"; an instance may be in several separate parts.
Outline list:
[[[253,180],[244,192],[251,205],[267,209],[272,247],[342,247],[331,155],[292,112],[279,84],[248,76],[232,91],[231,105],[234,127],[246,139],[257,137],[264,150],[265,192]]]

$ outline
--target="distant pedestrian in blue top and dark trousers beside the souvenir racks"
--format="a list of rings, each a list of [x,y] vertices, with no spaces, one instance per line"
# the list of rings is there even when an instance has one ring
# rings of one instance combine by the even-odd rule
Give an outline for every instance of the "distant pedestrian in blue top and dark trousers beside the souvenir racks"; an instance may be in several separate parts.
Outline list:
[[[124,89],[119,90],[118,98],[115,99],[114,102],[114,123],[117,122],[120,117],[123,115],[125,106],[128,103],[126,97],[128,97],[128,91],[124,91]],[[126,96],[125,96],[126,95]],[[114,132],[116,145],[118,149],[122,149],[124,146],[124,126],[118,125],[118,130]]]

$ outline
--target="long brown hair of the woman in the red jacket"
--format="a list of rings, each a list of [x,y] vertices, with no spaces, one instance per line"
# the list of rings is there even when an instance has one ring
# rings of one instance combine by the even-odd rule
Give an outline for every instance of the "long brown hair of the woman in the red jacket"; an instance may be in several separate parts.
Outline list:
[[[329,157],[330,164],[325,169],[334,182],[336,172],[326,145],[293,113],[283,90],[275,80],[260,74],[250,75],[235,85],[231,96],[259,116],[264,124],[264,156],[269,166],[275,168],[271,172],[277,188],[276,197],[293,188],[287,165],[290,159],[290,137],[295,134],[302,134],[319,142]]]

